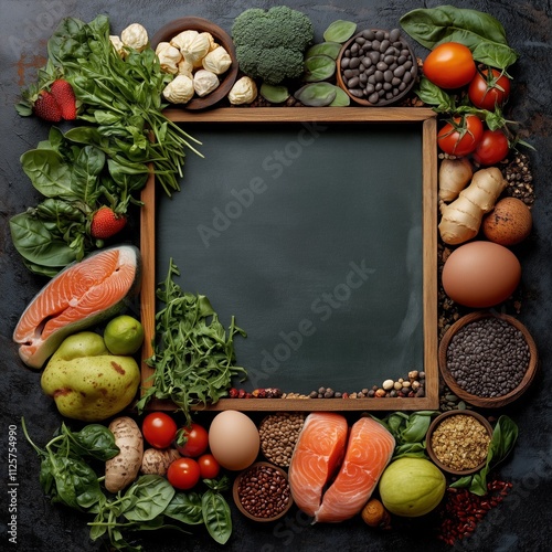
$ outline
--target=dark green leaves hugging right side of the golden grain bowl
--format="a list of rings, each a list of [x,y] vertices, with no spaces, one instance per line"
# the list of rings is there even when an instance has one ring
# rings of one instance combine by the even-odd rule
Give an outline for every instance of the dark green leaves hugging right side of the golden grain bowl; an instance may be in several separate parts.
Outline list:
[[[487,475],[490,469],[500,464],[513,449],[518,439],[518,426],[509,416],[498,418],[492,431],[492,437],[487,453],[487,461],[480,471],[465,476],[450,485],[454,488],[467,488],[480,497],[487,495]]]

